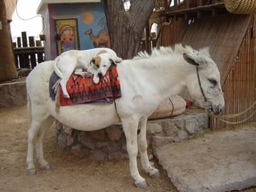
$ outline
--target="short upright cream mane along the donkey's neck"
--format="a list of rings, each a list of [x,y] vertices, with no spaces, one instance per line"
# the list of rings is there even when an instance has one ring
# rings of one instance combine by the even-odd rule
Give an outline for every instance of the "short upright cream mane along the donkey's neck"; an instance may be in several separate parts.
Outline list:
[[[152,53],[148,54],[146,51],[140,51],[132,60],[142,60],[142,59],[147,59],[151,57],[156,57],[156,56],[166,56],[166,55],[172,55],[172,54],[204,54],[205,56],[209,56],[209,48],[205,47],[203,49],[199,49],[196,51],[192,47],[186,45],[185,47],[182,46],[182,44],[175,44],[174,47],[159,47],[159,48],[153,48]]]

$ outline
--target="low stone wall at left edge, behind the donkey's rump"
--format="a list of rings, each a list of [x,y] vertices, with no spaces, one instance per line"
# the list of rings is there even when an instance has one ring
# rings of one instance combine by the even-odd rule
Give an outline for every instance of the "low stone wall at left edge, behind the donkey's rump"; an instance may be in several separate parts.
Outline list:
[[[26,104],[26,80],[0,84],[0,98],[0,108],[12,108]]]

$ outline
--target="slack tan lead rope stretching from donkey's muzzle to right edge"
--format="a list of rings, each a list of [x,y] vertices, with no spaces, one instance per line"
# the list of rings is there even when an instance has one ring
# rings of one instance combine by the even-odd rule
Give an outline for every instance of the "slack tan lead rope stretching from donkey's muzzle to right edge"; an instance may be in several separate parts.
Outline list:
[[[234,118],[234,117],[237,117],[237,116],[241,116],[244,113],[248,112],[250,109],[254,108],[255,105],[256,105],[256,101],[252,104],[252,106],[250,106],[250,108],[246,109],[245,111],[243,111],[241,113],[235,113],[235,114],[231,114],[231,115],[221,115],[221,116],[216,116],[213,113],[211,113],[211,116],[213,118],[216,118],[216,119],[220,120],[221,122],[225,122],[227,124],[241,124],[241,123],[245,122],[246,120],[248,120],[249,118],[251,118],[256,113],[256,110],[253,111],[250,116],[248,116],[247,118],[245,118],[244,120],[241,120],[239,122],[230,122],[230,121],[227,121],[227,120],[223,120],[223,118]]]

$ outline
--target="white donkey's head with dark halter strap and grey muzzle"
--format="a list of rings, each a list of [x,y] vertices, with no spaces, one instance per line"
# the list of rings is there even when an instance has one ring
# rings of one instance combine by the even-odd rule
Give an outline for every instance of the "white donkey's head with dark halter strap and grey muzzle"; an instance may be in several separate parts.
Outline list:
[[[223,92],[220,84],[220,72],[211,59],[207,48],[189,51],[183,54],[184,60],[195,69],[191,69],[187,77],[190,95],[201,107],[211,109],[213,113],[221,113],[224,107]]]

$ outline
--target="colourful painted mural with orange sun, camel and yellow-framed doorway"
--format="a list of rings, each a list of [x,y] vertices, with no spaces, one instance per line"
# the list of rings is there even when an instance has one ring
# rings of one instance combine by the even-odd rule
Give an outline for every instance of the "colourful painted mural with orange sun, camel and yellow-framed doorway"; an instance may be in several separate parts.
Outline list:
[[[51,4],[49,15],[55,25],[51,35],[55,35],[56,55],[71,49],[110,47],[101,3]]]

